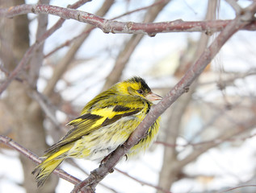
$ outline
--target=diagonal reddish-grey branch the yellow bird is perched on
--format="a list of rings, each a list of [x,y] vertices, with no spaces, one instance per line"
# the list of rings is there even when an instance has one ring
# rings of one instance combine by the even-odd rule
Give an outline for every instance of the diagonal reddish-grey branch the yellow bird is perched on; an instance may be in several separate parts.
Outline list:
[[[251,6],[256,6],[256,2],[253,2]],[[249,12],[250,14],[248,14]],[[188,69],[187,73],[178,82],[178,84],[176,84],[174,88],[167,93],[166,97],[164,97],[162,101],[150,109],[148,115],[131,134],[131,136],[128,138],[128,141],[124,142],[123,146],[117,148],[111,154],[111,156],[107,158],[106,162],[99,166],[99,168],[93,170],[87,179],[82,181],[82,183],[78,183],[73,188],[72,192],[74,193],[82,190],[84,192],[93,192],[97,183],[99,183],[106,175],[112,172],[112,168],[117,164],[117,162],[120,161],[120,158],[122,158],[124,154],[126,154],[128,150],[132,148],[132,146],[139,142],[141,138],[143,138],[146,131],[151,125],[153,125],[153,122],[156,121],[157,117],[164,113],[164,111],[170,107],[170,105],[173,104],[179,96],[187,91],[187,88],[189,88],[191,83],[204,71],[204,68],[207,67],[207,65],[220,51],[220,48],[228,41],[228,39],[241,28],[245,27],[248,23],[251,23],[251,19],[253,19],[255,12],[256,7],[254,7],[254,9],[251,9],[250,6],[247,7],[246,17],[250,18],[247,21],[243,15],[237,15],[237,18],[231,21],[225,27],[225,29],[220,32],[220,35],[218,35],[213,43],[207,49],[205,49],[203,54],[200,55],[199,60],[197,60],[195,64],[192,65],[190,69]]]

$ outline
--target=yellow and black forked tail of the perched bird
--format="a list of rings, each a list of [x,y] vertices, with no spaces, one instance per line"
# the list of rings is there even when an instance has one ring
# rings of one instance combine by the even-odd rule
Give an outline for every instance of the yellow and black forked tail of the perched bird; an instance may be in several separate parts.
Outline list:
[[[62,149],[62,148],[61,148]],[[62,150],[58,150],[54,153],[48,153],[45,154],[43,158],[46,157],[46,159],[40,163],[40,165],[36,166],[36,168],[32,171],[32,174],[35,175],[36,172],[36,183],[37,187],[42,187],[48,179],[49,175],[52,174],[52,171],[57,168],[63,162],[65,159],[65,152],[67,152],[69,148],[63,148]]]

